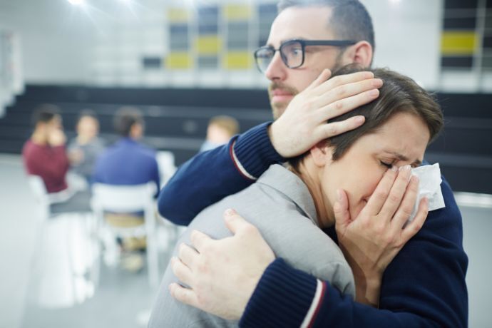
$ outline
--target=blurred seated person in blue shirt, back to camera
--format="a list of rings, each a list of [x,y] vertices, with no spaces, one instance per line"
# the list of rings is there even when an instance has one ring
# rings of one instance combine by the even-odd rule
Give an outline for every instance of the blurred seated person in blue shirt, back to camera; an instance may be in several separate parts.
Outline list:
[[[106,148],[96,160],[93,183],[107,185],[141,185],[149,181],[155,182],[159,190],[160,178],[155,150],[142,145],[138,140],[143,137],[144,121],[137,108],[120,108],[114,118],[116,133],[121,139]],[[157,197],[157,194],[155,195]],[[107,213],[107,222],[116,227],[143,225],[143,213]],[[119,240],[123,251],[145,250],[145,239]],[[123,257],[122,265],[130,271],[138,271],[143,260],[135,260],[135,256]]]

